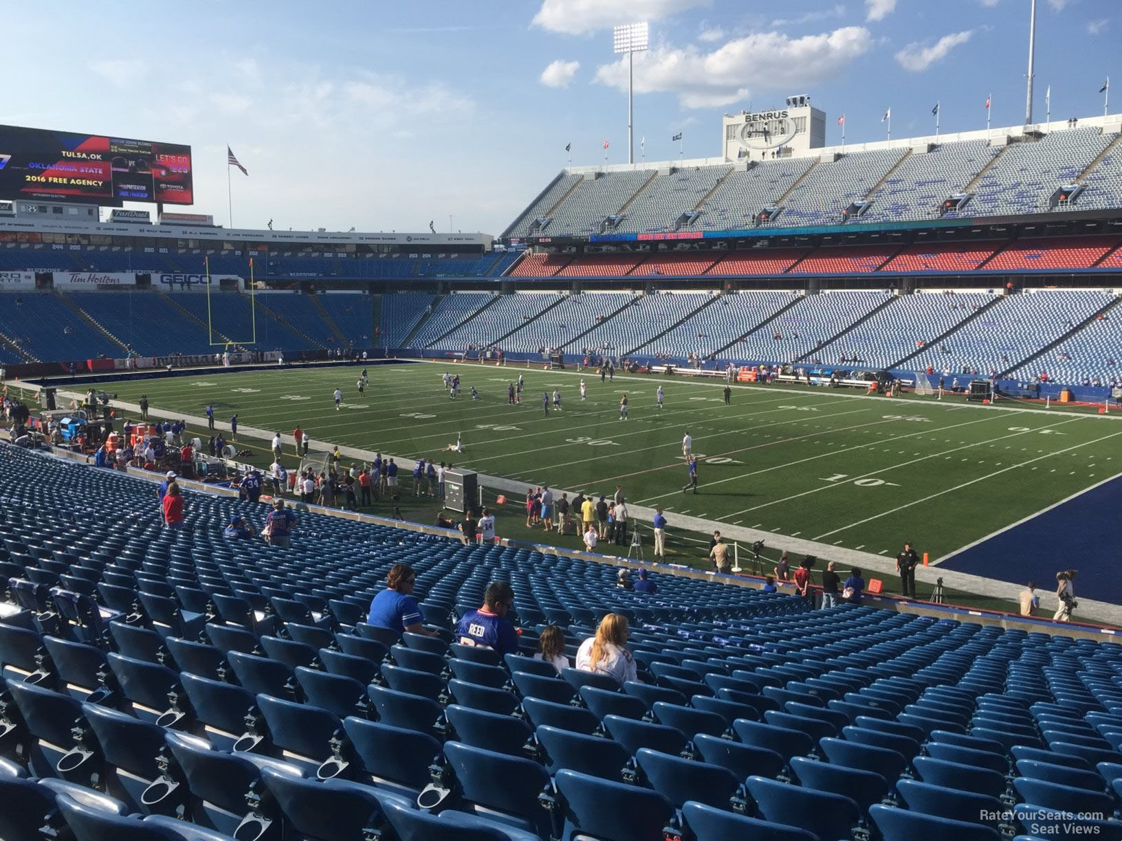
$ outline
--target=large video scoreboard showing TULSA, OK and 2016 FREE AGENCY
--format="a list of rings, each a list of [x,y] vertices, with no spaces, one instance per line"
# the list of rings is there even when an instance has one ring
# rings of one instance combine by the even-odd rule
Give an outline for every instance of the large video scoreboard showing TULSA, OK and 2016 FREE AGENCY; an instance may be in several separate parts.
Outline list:
[[[193,204],[191,147],[0,126],[0,198]]]

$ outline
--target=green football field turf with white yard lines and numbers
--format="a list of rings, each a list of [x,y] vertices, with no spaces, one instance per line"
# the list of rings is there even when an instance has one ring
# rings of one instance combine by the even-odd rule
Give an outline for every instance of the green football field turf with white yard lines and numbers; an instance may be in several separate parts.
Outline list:
[[[791,386],[736,385],[726,405],[719,380],[601,381],[591,371],[429,362],[370,366],[359,395],[360,370],[222,372],[112,389],[129,401],[146,394],[158,416],[199,416],[211,404],[220,429],[237,413],[243,426],[287,435],[300,425],[320,443],[452,461],[507,480],[499,490],[512,499],[521,500],[522,484],[609,497],[622,484],[633,506],[708,527],[890,556],[911,539],[932,562],[1122,472],[1122,424],[1113,415]],[[462,378],[454,400],[443,388],[445,370]],[[509,406],[507,386],[519,375],[522,401]],[[542,395],[554,389],[562,408],[546,414]],[[628,417],[620,419],[624,395]],[[697,495],[682,492],[687,432],[698,456]],[[443,452],[458,434],[465,452]]]

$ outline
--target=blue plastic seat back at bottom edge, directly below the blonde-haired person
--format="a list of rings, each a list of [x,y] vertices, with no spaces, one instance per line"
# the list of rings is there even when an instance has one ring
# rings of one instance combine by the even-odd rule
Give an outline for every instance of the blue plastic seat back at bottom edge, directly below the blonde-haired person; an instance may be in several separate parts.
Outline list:
[[[564,838],[586,834],[613,841],[661,838],[673,806],[657,792],[560,770],[554,780],[564,800]]]

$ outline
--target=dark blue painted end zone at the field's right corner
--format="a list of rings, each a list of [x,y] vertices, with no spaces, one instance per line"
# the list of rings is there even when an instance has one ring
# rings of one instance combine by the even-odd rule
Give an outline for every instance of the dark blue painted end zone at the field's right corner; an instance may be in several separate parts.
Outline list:
[[[999,581],[1056,591],[1056,573],[1078,570],[1080,595],[1122,604],[1122,574],[1118,569],[1122,514],[1122,477],[1080,493],[1039,517],[983,540],[939,563],[940,570],[967,572]],[[1115,528],[1111,528],[1114,525]],[[1047,597],[1043,600],[1047,602]],[[1055,601],[1055,600],[1054,600]]]

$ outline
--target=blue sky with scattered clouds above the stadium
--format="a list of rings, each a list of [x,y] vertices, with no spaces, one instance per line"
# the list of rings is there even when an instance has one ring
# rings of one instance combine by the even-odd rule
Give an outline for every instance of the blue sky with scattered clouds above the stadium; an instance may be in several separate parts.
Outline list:
[[[565,165],[627,159],[611,26],[651,21],[635,62],[647,160],[719,154],[720,114],[808,93],[827,142],[1024,117],[1029,0],[366,0],[4,10],[3,122],[186,142],[196,212],[237,227],[499,233]],[[48,12],[44,12],[48,9]],[[1122,0],[1039,0],[1037,120],[1101,114]],[[18,80],[12,84],[12,80]]]

